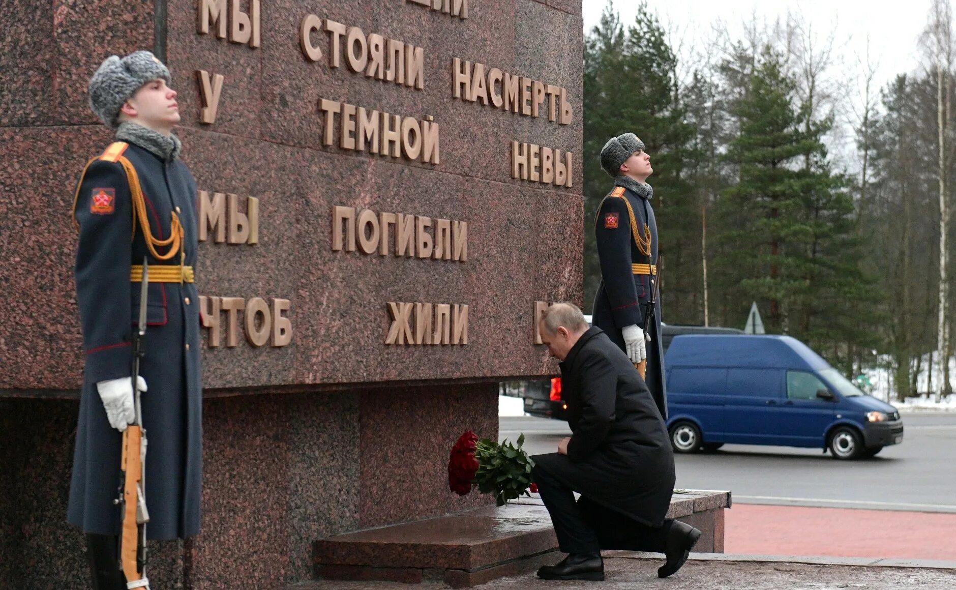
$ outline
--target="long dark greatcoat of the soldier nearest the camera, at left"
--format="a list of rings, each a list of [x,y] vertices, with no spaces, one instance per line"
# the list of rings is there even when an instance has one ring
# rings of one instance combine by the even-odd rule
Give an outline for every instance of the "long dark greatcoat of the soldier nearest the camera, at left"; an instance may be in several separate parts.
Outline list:
[[[170,236],[175,212],[183,226],[185,265],[196,261],[196,183],[178,159],[163,160],[140,145],[123,156],[136,168],[153,236]],[[98,199],[95,199],[98,197]],[[97,382],[128,377],[133,332],[140,313],[140,283],[130,266],[148,257],[150,268],[179,265],[149,255],[120,164],[97,161],[76,195],[79,242],[76,300],[86,353],[68,520],[86,533],[117,535],[113,504],[120,484],[120,431],[109,425]],[[168,248],[159,247],[162,255]],[[197,535],[202,495],[202,387],[199,296],[193,283],[150,283],[141,376],[142,426],[148,438],[146,503],[150,539]]]

